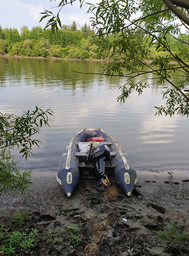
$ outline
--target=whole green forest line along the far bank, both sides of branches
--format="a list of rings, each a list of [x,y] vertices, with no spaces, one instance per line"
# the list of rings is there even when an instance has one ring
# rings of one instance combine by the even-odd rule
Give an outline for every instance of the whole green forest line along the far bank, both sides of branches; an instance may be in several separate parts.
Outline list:
[[[97,45],[95,45],[95,32],[91,31],[90,26],[85,23],[80,30],[77,29],[75,21],[68,26],[63,25],[52,34],[50,29],[43,30],[40,26],[27,26],[21,28],[21,33],[16,28],[3,28],[0,26],[0,55],[20,55],[29,57],[42,56],[45,58],[77,58],[77,59],[98,59],[114,58],[110,51],[106,56],[99,56]],[[188,34],[179,34],[175,40],[171,35],[167,36],[167,41],[173,53],[188,56],[189,45],[183,44],[182,41],[189,42]],[[149,43],[146,41],[146,47]],[[166,52],[158,51],[155,46],[149,48],[148,60],[155,57],[167,55]],[[189,61],[189,59],[185,59]]]

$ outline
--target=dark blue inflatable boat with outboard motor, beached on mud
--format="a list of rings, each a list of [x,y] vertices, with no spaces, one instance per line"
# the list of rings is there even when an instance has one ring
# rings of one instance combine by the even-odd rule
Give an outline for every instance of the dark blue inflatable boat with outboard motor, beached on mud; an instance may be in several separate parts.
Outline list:
[[[84,150],[80,150],[81,146]],[[102,129],[85,128],[73,137],[63,151],[57,181],[66,195],[71,197],[80,178],[101,179],[107,185],[114,176],[120,188],[130,197],[137,174],[126,157],[122,147]]]

